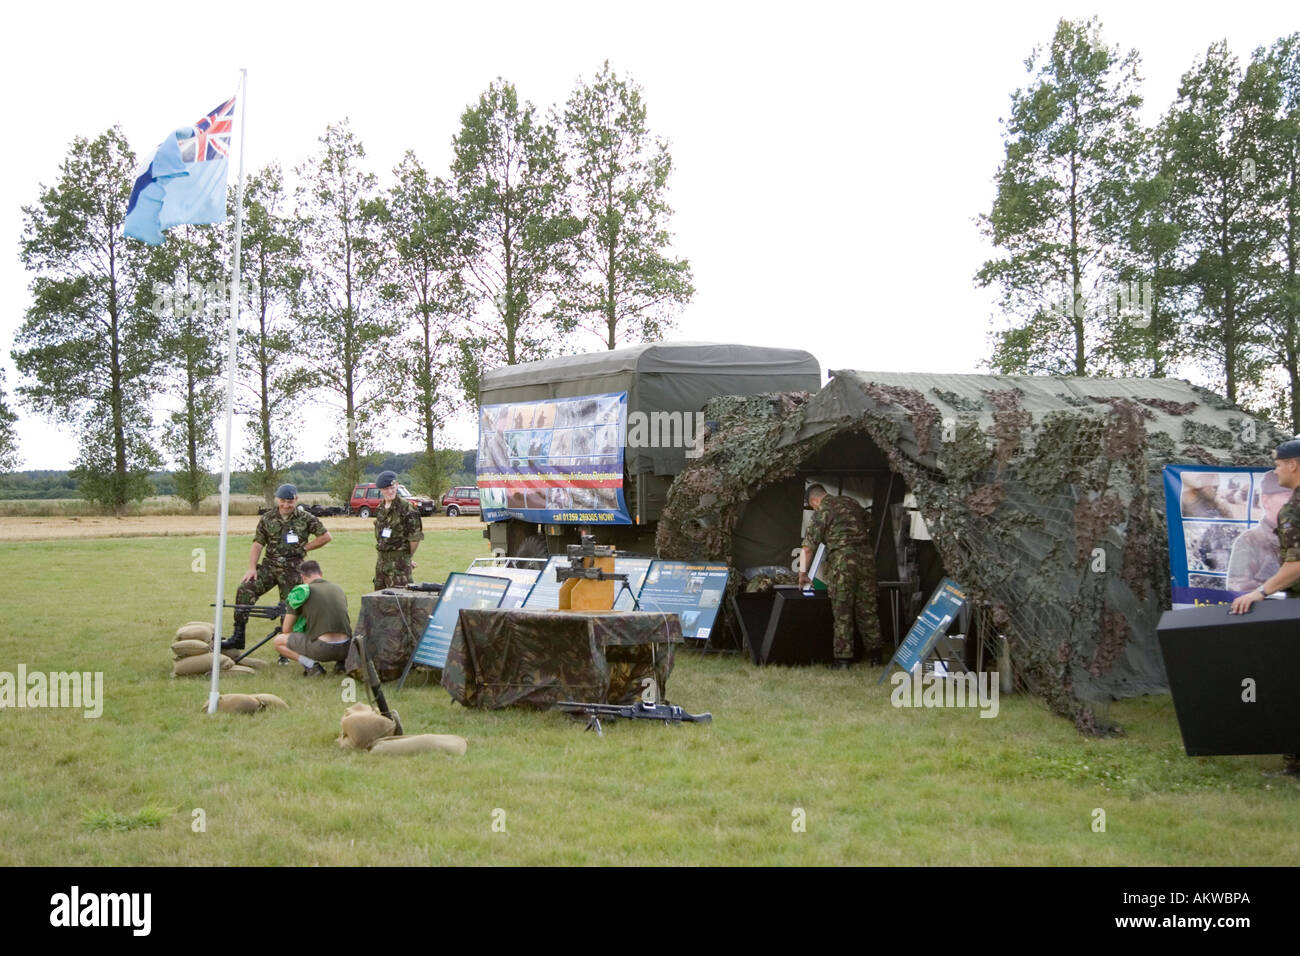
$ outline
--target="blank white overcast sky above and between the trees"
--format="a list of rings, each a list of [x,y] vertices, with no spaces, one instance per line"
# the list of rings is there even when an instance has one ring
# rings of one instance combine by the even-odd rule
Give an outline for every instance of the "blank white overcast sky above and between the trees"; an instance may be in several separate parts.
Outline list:
[[[16,133],[0,176],[10,405],[9,350],[30,304],[21,207],[56,181],[74,135],[117,124],[147,153],[229,96],[240,66],[250,170],[292,168],[348,117],[386,187],[408,148],[443,174],[460,113],[498,75],[545,111],[608,59],[642,86],[672,152],[675,250],[698,290],[673,338],[803,347],[823,371],[975,372],[993,297],[971,280],[992,254],[974,217],[992,202],[998,118],[1057,20],[1097,14],[1108,44],[1138,48],[1148,121],[1212,42],[1244,61],[1300,29],[1282,3],[890,7],[12,5],[0,38]],[[75,436],[17,411],[21,467],[69,467]],[[325,457],[325,416],[307,412],[303,433],[300,457]],[[474,445],[473,427],[447,441]]]

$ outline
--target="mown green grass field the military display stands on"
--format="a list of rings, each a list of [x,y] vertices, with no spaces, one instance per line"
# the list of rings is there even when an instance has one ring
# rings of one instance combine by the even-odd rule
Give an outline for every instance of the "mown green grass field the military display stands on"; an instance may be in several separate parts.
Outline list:
[[[248,542],[231,541],[231,594]],[[485,551],[477,525],[433,532],[417,576]],[[1264,773],[1279,758],[1186,757],[1169,697],[1117,702],[1127,736],[1089,740],[1024,697],[1004,697],[994,719],[894,709],[879,669],[681,653],[667,696],[712,724],[619,722],[598,737],[560,714],[469,711],[408,685],[391,701],[407,732],[460,734],[469,752],[385,758],[334,743],[338,678],[274,665],[224,689],[269,691],[291,710],[208,717],[207,679],[170,678],[168,644],[209,615],[216,554],[211,536],[0,546],[0,671],[103,671],[105,698],[98,719],[0,711],[0,864],[1300,858],[1300,787]],[[355,611],[373,538],[341,529],[313,557]],[[269,645],[259,657],[274,659]]]

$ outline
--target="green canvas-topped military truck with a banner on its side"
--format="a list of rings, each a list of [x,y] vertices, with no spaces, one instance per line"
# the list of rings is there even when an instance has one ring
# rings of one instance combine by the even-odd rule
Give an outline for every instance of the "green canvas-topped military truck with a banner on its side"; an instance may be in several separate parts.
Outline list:
[[[484,537],[498,554],[545,557],[589,531],[653,554],[668,486],[702,447],[708,399],[820,388],[806,351],[705,342],[493,369],[478,392]]]

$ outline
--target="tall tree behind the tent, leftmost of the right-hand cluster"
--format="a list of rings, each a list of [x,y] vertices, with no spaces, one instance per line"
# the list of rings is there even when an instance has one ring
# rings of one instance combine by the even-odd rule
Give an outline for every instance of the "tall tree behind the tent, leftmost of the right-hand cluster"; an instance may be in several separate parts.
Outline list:
[[[997,196],[980,217],[1001,255],[975,278],[1014,316],[989,364],[1087,375],[1117,290],[1117,200],[1140,155],[1138,53],[1104,46],[1096,18],[1062,20],[1026,69],[1034,79],[1011,94]]]

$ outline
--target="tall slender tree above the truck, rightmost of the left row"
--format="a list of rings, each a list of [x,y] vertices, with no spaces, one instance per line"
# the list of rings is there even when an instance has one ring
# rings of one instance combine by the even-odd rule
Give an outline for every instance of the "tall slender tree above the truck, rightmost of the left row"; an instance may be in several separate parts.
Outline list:
[[[689,263],[670,254],[672,157],[646,126],[641,87],[606,61],[569,96],[563,130],[584,224],[564,307],[608,349],[660,339],[696,290]]]

